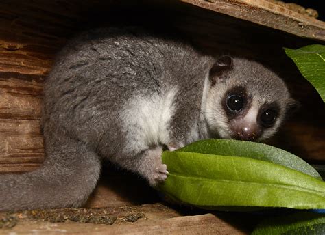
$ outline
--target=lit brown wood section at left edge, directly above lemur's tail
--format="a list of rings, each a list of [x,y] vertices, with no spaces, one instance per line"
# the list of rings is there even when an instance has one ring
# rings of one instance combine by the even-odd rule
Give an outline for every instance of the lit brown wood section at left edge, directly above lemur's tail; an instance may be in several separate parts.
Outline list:
[[[23,78],[15,77],[14,72],[6,74],[8,77],[3,74],[0,72],[0,172],[31,171],[44,158],[40,133],[43,83],[29,74],[22,74]]]

